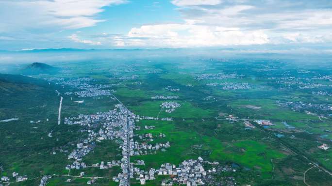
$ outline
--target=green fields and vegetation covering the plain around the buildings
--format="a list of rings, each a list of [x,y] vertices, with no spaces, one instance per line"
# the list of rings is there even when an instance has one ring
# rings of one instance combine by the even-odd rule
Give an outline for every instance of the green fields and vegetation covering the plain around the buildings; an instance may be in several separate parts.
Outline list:
[[[178,165],[200,156],[231,167],[231,171],[220,171],[213,177],[218,181],[233,177],[240,186],[305,186],[303,173],[314,163],[332,171],[332,149],[318,148],[322,144],[332,147],[332,112],[328,109],[332,99],[324,94],[332,93],[331,82],[324,79],[332,76],[330,67],[304,68],[271,59],[219,62],[210,58],[150,58],[139,62],[68,62],[59,66],[67,70],[63,73],[36,70],[37,78],[0,74],[0,120],[18,118],[0,122],[0,176],[10,176],[14,171],[28,176],[28,181],[11,186],[37,186],[43,175],[52,175],[47,186],[83,186],[90,177],[102,177],[97,179],[97,186],[118,185],[112,177],[122,172],[120,166],[100,170],[91,165],[120,160],[122,141],[92,139],[95,148],[82,158],[88,167],[68,171],[66,165],[73,162],[68,155],[88,136],[79,124],[63,124],[65,117],[114,109],[118,101],[112,94],[80,97],[75,93],[82,87],[55,80],[49,83],[43,78],[64,78],[63,82],[91,78],[84,86],[96,85],[114,93],[136,115],[158,117],[135,121],[140,126],[140,130],[134,130],[135,141],[170,143],[169,148],[149,151],[148,155],[133,155],[131,162],[145,161],[144,166],[135,165],[141,170],[159,169],[165,163]],[[311,73],[302,74],[301,70]],[[310,87],[312,83],[319,85]],[[247,84],[249,88],[242,86]],[[306,87],[302,87],[304,84]],[[179,97],[151,99],[156,95]],[[60,96],[64,100],[62,123],[58,125]],[[177,102],[181,107],[167,113],[161,107],[163,102]],[[172,121],[160,120],[170,117]],[[246,120],[251,127],[244,124]],[[254,120],[269,120],[274,125],[262,126]],[[145,129],[145,125],[154,128]],[[96,133],[101,128],[98,122],[89,127]],[[153,141],[139,139],[147,133],[152,134]],[[165,137],[159,137],[160,133]],[[204,164],[206,170],[212,167]],[[317,167],[307,171],[307,183],[331,185],[331,176]],[[79,176],[81,171],[83,177]],[[69,178],[70,183],[66,182]],[[146,185],[160,185],[170,178],[158,175]],[[131,183],[139,185],[134,178]]]

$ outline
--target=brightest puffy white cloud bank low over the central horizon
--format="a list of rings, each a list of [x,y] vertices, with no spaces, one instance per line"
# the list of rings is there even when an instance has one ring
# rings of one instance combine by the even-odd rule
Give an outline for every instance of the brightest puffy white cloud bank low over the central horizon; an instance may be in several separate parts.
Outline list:
[[[132,28],[128,38],[117,40],[125,46],[213,47],[259,45],[269,42],[263,31],[241,31],[194,24],[158,24]]]

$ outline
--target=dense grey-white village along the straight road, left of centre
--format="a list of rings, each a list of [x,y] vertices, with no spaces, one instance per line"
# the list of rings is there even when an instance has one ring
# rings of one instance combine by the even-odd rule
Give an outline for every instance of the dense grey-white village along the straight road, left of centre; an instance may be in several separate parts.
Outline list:
[[[116,105],[116,108],[108,112],[98,112],[92,115],[80,114],[78,117],[65,118],[65,124],[79,124],[84,126],[86,129],[81,130],[81,132],[88,132],[87,139],[82,142],[77,143],[77,149],[75,149],[68,159],[75,159],[71,165],[67,165],[66,169],[84,169],[86,164],[82,162],[82,157],[94,148],[95,141],[100,140],[114,140],[120,139],[123,141],[121,145],[122,149],[122,159],[121,159],[121,169],[122,173],[119,173],[117,180],[120,182],[120,186],[127,186],[130,176],[130,155],[133,155],[134,143],[133,143],[133,128],[134,119],[136,116],[125,108],[122,104]],[[94,132],[94,128],[100,126],[99,132]],[[119,162],[112,161],[100,163],[100,169],[104,169],[109,166],[119,165]],[[92,184],[95,180],[89,181]]]

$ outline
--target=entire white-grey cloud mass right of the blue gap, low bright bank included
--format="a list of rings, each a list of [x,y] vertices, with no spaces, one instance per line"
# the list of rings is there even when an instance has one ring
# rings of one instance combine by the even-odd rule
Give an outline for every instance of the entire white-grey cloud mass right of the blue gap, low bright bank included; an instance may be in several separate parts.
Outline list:
[[[147,24],[116,38],[117,46],[213,47],[331,43],[332,2],[171,0],[182,24]]]

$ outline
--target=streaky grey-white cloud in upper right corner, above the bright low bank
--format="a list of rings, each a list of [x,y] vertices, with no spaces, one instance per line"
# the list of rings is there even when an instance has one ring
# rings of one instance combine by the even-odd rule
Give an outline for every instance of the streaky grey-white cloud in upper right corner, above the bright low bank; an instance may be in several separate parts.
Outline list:
[[[211,6],[192,6],[192,1],[178,0],[173,4],[188,24],[207,26],[213,31],[215,27],[226,30],[239,28],[244,35],[248,33],[264,32],[269,43],[324,43],[332,42],[332,12],[326,3],[300,0],[223,0],[210,1]],[[201,2],[201,1],[199,1]],[[199,5],[200,3],[197,2]],[[196,2],[193,2],[196,3]],[[258,32],[257,32],[258,31]],[[223,33],[222,35],[225,35]],[[263,43],[249,42],[250,39],[241,39],[241,34],[232,32],[232,42],[223,43]],[[257,37],[256,34],[255,38]],[[223,37],[218,34],[215,36]],[[203,36],[202,36],[203,37]],[[219,41],[219,40],[218,40]],[[235,42],[237,41],[237,42]],[[221,42],[219,42],[221,43]]]

